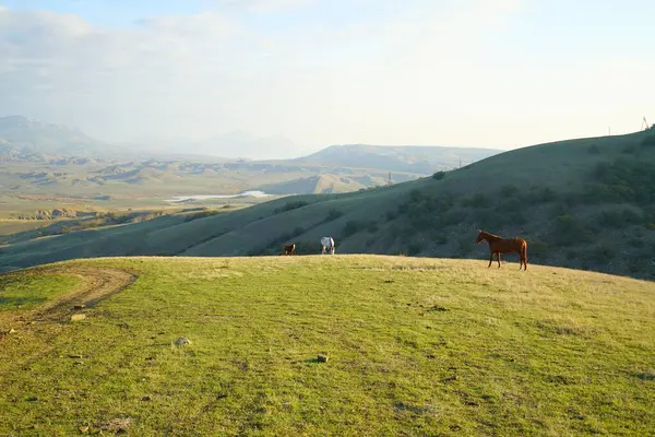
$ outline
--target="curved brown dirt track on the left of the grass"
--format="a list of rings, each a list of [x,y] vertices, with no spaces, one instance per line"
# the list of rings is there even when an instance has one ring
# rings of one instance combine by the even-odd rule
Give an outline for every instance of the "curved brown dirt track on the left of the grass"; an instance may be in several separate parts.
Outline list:
[[[84,265],[36,268],[29,269],[27,274],[71,274],[79,276],[81,283],[74,290],[34,309],[0,314],[0,324],[8,331],[14,329],[16,332],[25,332],[44,322],[60,324],[70,320],[73,314],[93,308],[100,300],[121,292],[139,277],[126,270]],[[0,341],[8,335],[7,331],[0,332]]]

